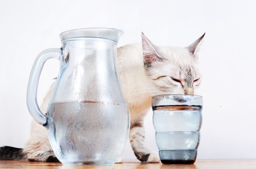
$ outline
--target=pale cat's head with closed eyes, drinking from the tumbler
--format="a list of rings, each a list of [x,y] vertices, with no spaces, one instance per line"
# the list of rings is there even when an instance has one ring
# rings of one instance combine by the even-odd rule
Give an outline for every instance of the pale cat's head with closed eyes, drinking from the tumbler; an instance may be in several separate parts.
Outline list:
[[[201,83],[197,67],[199,39],[188,47],[155,46],[142,33],[144,69],[162,94],[194,94]]]

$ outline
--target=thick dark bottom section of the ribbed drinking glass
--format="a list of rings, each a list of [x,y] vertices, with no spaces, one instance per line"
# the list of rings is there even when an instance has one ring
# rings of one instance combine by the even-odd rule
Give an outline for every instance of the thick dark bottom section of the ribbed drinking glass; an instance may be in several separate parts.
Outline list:
[[[159,150],[159,157],[163,164],[194,164],[197,149],[193,150]]]

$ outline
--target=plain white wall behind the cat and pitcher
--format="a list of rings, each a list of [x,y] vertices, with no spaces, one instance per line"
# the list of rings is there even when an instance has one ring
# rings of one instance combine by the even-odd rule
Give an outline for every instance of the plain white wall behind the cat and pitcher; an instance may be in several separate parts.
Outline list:
[[[206,36],[200,50],[204,98],[198,158],[256,158],[256,1],[0,0],[0,146],[22,148],[32,118],[26,90],[35,57],[60,47],[59,34],[86,27],[124,31],[118,46],[140,42],[185,47]],[[38,103],[59,70],[45,64]],[[152,112],[145,118],[147,145],[157,151]],[[127,144],[124,158],[135,158]]]

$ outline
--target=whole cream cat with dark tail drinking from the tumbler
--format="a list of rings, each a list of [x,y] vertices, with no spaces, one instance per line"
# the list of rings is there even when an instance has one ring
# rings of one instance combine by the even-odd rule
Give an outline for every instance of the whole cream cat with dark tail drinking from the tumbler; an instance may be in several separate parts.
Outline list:
[[[138,160],[160,161],[158,153],[151,152],[144,142],[143,117],[151,107],[152,96],[194,94],[200,86],[197,60],[204,35],[188,47],[180,48],[156,46],[142,33],[142,44],[128,44],[117,49],[118,70],[131,113],[129,140]],[[48,109],[55,82],[40,106],[42,111]],[[50,146],[47,130],[35,121],[31,124],[25,148],[3,146],[0,148],[0,159],[59,162]]]

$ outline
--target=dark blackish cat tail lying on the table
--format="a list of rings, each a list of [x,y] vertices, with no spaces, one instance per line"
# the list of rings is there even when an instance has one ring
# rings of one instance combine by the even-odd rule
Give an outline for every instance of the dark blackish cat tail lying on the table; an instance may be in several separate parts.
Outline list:
[[[22,150],[10,146],[0,147],[0,160],[24,160]]]

